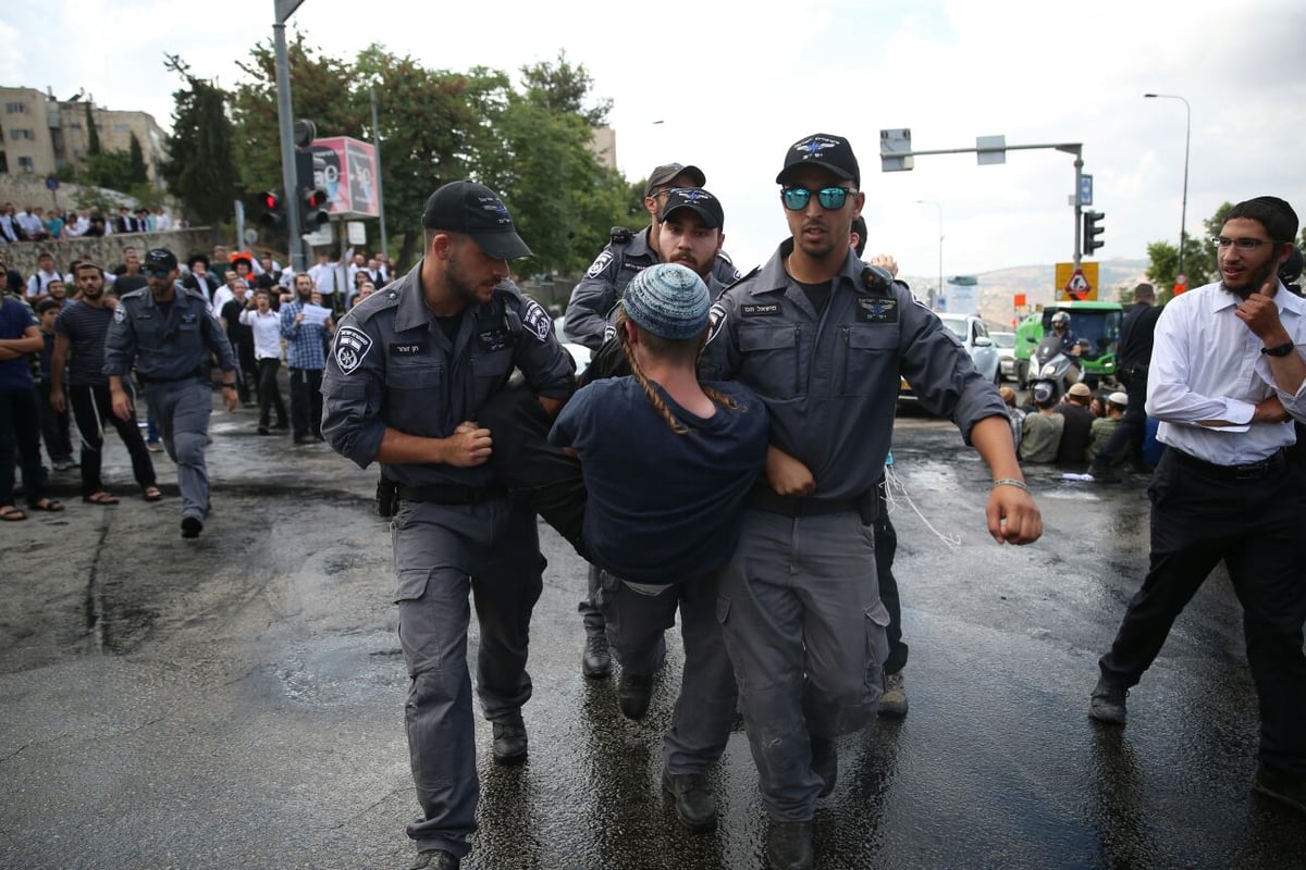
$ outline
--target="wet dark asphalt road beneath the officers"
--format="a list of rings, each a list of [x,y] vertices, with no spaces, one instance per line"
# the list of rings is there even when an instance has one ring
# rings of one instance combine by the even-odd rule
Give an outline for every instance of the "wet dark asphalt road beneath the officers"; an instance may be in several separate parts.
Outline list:
[[[214,415],[199,540],[179,536],[167,458],[168,498],[145,503],[112,436],[121,505],[81,503],[65,472],[65,513],[0,528],[0,867],[410,862],[375,473],[253,428],[252,410]],[[1131,694],[1127,729],[1087,716],[1145,567],[1145,481],[1027,470],[1045,536],[1006,548],[983,528],[986,470],[949,424],[905,413],[893,453],[912,710],[841,741],[818,867],[1306,866],[1306,819],[1250,790],[1255,697],[1222,574]],[[718,830],[684,832],[658,790],[679,655],[649,716],[624,720],[615,678],[580,674],[584,567],[541,535],[530,759],[492,764],[478,720],[481,831],[464,866],[763,866],[743,733],[713,777]]]

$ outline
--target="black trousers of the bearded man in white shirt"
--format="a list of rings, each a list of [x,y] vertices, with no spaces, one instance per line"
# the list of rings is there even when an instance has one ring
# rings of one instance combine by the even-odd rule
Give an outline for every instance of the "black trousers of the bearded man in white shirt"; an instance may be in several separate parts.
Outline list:
[[[1151,569],[1102,656],[1102,676],[1134,686],[1174,620],[1224,561],[1242,604],[1247,664],[1260,708],[1260,760],[1306,776],[1306,479],[1281,464],[1233,480],[1166,449],[1152,498]]]

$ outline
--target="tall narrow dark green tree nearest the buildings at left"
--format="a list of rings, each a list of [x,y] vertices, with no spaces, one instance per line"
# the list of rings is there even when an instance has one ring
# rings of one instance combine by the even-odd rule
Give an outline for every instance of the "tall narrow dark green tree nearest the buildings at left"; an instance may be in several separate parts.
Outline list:
[[[236,197],[227,94],[192,76],[176,55],[168,55],[165,67],[178,73],[185,86],[172,93],[176,108],[168,143],[171,158],[159,171],[192,220],[222,223]]]

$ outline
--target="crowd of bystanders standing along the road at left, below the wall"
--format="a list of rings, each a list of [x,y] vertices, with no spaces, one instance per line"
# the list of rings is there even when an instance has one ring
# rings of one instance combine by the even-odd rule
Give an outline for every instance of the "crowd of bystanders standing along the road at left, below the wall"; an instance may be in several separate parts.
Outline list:
[[[146,223],[145,214],[140,224],[135,220],[124,209],[119,232],[166,226]],[[112,428],[128,450],[132,475],[146,501],[163,498],[150,454],[166,451],[178,462],[183,517],[191,520],[187,528],[195,533],[199,533],[196,524],[202,528],[208,513],[202,467],[206,423],[199,446],[193,443],[193,432],[176,428],[178,404],[163,402],[166,390],[161,386],[172,382],[168,367],[175,360],[165,361],[168,374],[151,374],[144,360],[157,348],[151,340],[137,347],[135,331],[151,320],[176,321],[172,331],[153,342],[161,347],[184,346],[191,331],[201,327],[204,340],[189,348],[193,364],[178,373],[184,376],[180,380],[212,390],[212,361],[217,359],[225,372],[223,383],[217,386],[230,380],[235,393],[232,407],[259,407],[255,427],[259,434],[282,430],[296,445],[320,442],[320,382],[334,318],[376,287],[385,286],[394,267],[388,258],[368,258],[353,250],[347,263],[337,263],[338,258],[329,254],[323,260],[330,269],[320,265],[296,277],[282,269],[270,252],[255,256],[218,245],[212,256],[191,254],[183,266],[167,249],[142,254],[133,245],[124,245],[119,263],[74,260],[67,270],[51,252],[40,250],[37,270],[22,275],[9,269],[5,245],[0,245],[5,297],[0,364],[7,367],[0,389],[13,391],[7,394],[0,416],[0,451],[7,457],[0,462],[5,466],[0,472],[5,475],[0,477],[0,522],[21,522],[30,511],[63,510],[61,502],[47,497],[52,473],[80,473],[81,496],[88,503],[119,503],[120,490],[115,492],[112,481],[102,477],[104,430]],[[340,277],[329,274],[332,270],[338,270]],[[338,282],[343,287],[346,280],[353,282],[350,292],[332,293],[324,301],[320,292],[324,286]],[[146,308],[140,322],[135,314],[138,303]],[[128,351],[131,359],[119,365],[120,372],[111,373],[115,330],[132,333],[119,337],[127,344],[118,348]],[[222,364],[223,347],[230,348],[229,367]],[[282,361],[290,368],[289,403],[278,378]],[[150,394],[159,402],[141,400],[137,407],[137,399]],[[192,430],[200,416],[206,420],[199,395],[196,390],[180,406],[185,411],[180,416],[189,420]],[[26,510],[13,498],[16,464]]]

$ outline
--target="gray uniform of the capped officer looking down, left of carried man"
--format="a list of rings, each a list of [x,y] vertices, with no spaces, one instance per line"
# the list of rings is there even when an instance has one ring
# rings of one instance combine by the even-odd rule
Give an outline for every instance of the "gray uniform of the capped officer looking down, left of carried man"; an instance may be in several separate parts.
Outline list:
[[[341,320],[323,378],[323,434],[367,467],[387,428],[445,438],[504,387],[513,367],[541,397],[575,389],[571,356],[537,303],[509,282],[458,317],[451,342],[422,297],[422,263]],[[383,464],[400,505],[390,522],[400,643],[407,664],[405,719],[423,818],[419,850],[468,853],[478,796],[468,592],[481,625],[477,694],[486,719],[507,720],[530,698],[526,646],[545,558],[534,511],[511,500],[488,464]]]

